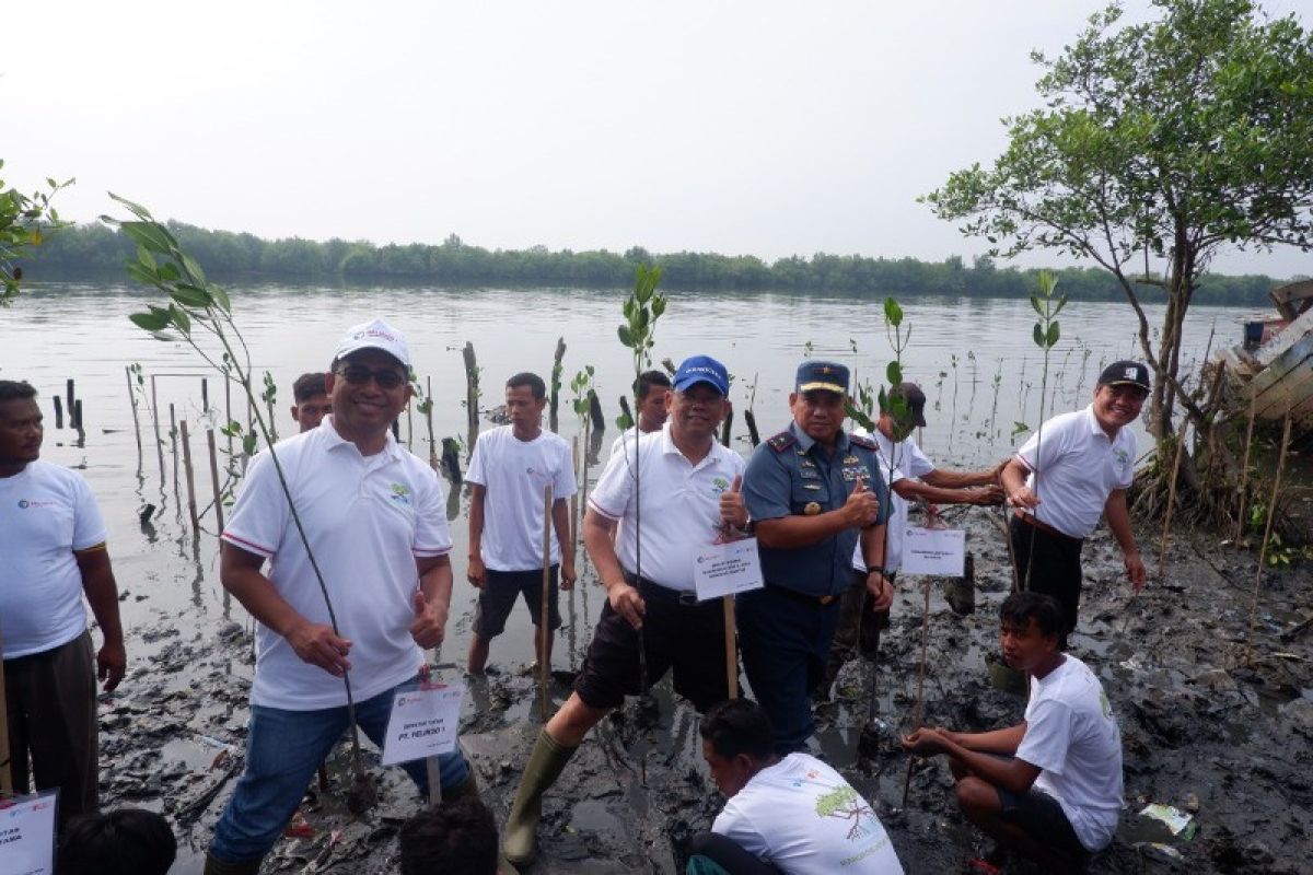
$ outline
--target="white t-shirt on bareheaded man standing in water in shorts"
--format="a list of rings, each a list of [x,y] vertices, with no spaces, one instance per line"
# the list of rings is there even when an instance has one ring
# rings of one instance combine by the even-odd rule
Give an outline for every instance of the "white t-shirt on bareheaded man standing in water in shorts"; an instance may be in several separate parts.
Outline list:
[[[483,537],[479,555],[492,571],[542,568],[542,492],[551,484],[553,502],[575,493],[570,445],[559,434],[540,432],[532,441],[515,437],[509,425],[479,436],[470,483],[483,487]],[[561,561],[561,542],[551,533],[551,561]]]

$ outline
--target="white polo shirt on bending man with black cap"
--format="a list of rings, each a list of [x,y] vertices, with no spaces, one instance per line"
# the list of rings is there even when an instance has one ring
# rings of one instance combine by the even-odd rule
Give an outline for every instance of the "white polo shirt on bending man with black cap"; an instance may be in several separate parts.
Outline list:
[[[1109,439],[1090,404],[1050,418],[1022,445],[1016,458],[1031,471],[1025,485],[1040,497],[1036,518],[1071,538],[1088,538],[1112,491],[1134,480],[1136,436],[1123,428]]]

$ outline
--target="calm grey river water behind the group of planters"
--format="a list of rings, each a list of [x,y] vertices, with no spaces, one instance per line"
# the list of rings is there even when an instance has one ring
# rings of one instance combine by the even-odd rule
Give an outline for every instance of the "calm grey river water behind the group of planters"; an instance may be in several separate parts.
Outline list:
[[[421,380],[432,379],[439,437],[465,432],[460,349],[466,341],[474,342],[478,354],[486,407],[502,401],[502,386],[516,371],[549,376],[558,337],[567,344],[563,382],[569,384],[574,373],[593,365],[608,422],[617,413],[617,396],[633,379],[630,353],[616,337],[622,290],[239,286],[231,294],[256,373],[268,370],[277,380],[278,428],[285,434],[293,429],[286,413],[293,379],[303,371],[326,370],[344,329],[373,316],[406,332],[416,373]],[[228,606],[222,597],[213,534],[204,535],[198,554],[193,552],[185,492],[179,506],[168,447],[160,475],[148,408],[142,409],[144,460],[138,457],[123,370],[133,362],[142,365],[147,378],[156,375],[165,442],[169,404],[179,420],[189,421],[198,500],[202,505],[210,501],[200,387],[206,370],[184,344],[160,342],[129,323],[127,315],[143,310],[146,300],[146,293],[127,286],[55,283],[25,290],[14,307],[0,312],[0,375],[26,379],[38,388],[49,426],[43,457],[81,468],[100,500],[119,586],[131,593],[125,600],[129,635],[134,626],[179,611],[194,611],[198,622],[214,622],[230,611],[235,619],[244,618],[240,607]],[[1014,442],[1014,424],[1033,426],[1039,420],[1043,359],[1031,341],[1035,312],[1029,303],[926,296],[902,304],[905,324],[911,327],[903,373],[919,382],[930,399],[923,449],[940,462],[962,466],[1003,458]],[[1213,327],[1215,348],[1238,338],[1237,320],[1243,312],[1196,307],[1187,321],[1183,361],[1203,356]],[[1150,324],[1161,315],[1162,308],[1150,307]],[[1049,373],[1056,411],[1087,403],[1102,365],[1133,357],[1138,349],[1134,317],[1125,303],[1073,303],[1061,323],[1062,341],[1052,354]],[[735,375],[735,446],[743,453],[748,447],[742,411],[751,400],[763,437],[783,428],[793,370],[805,356],[842,361],[859,379],[872,382],[882,379],[892,357],[878,300],[825,295],[675,291],[655,336],[658,361],[706,353]],[[64,392],[70,378],[84,404],[81,445],[67,428],[54,428],[51,399]],[[143,400],[148,400],[148,388],[147,379]],[[569,387],[562,390],[567,394]],[[213,374],[210,399],[222,409],[223,390]],[[578,430],[563,397],[561,432],[571,437]],[[406,433],[403,424],[403,438]],[[427,450],[420,433],[416,417],[414,447],[423,457]],[[609,426],[608,445],[614,433]],[[1141,451],[1145,445],[1142,441]],[[138,522],[146,504],[158,508],[152,527]],[[473,605],[473,590],[463,582],[463,504],[450,506],[456,514],[457,588],[445,653],[460,661]],[[213,533],[213,518],[202,525]],[[597,602],[595,594],[593,617]],[[587,640],[583,626],[580,636]],[[567,648],[558,648],[558,665],[567,659]],[[494,645],[494,662],[530,660],[527,635],[507,635]]]

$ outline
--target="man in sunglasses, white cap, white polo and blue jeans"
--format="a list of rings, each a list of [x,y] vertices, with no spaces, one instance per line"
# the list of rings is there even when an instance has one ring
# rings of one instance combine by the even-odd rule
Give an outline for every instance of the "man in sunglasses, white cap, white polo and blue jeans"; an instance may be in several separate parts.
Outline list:
[[[259,871],[348,728],[344,681],[357,724],[381,745],[394,693],[416,682],[423,651],[442,640],[452,598],[442,488],[390,430],[410,397],[408,369],[406,340],[386,323],[348,331],[327,380],[332,416],[251,462],[223,530],[221,580],[259,628],[246,773],[215,825],[206,875]],[[440,766],[446,796],[477,792],[460,748]],[[427,791],[424,762],[404,769]]]

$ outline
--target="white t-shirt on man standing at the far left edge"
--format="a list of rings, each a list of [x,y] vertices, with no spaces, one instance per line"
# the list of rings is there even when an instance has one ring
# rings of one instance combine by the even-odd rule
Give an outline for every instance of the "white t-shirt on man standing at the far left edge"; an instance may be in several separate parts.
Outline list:
[[[105,542],[76,471],[37,459],[0,478],[0,635],[4,659],[43,653],[87,631],[75,550]]]

